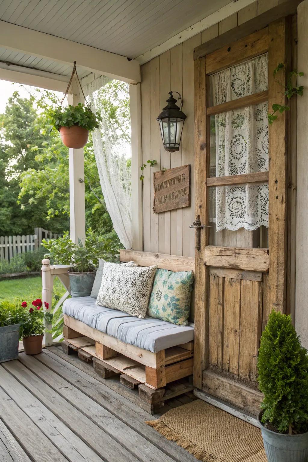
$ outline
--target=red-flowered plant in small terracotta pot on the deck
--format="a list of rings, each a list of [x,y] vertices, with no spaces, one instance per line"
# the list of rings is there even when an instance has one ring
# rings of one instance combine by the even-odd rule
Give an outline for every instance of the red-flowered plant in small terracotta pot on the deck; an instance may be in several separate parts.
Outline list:
[[[48,303],[45,302],[46,312],[42,308],[42,300],[36,298],[31,303],[30,309],[26,310],[27,303],[23,302],[24,313],[21,316],[21,332],[24,344],[24,353],[38,354],[42,351],[42,341],[44,336],[44,324],[46,319],[47,323],[51,323],[53,315],[47,310],[49,309]]]

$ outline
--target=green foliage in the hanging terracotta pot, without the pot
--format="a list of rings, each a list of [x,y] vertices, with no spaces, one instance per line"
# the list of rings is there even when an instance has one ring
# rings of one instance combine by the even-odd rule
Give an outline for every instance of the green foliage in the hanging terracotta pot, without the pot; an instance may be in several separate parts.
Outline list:
[[[58,131],[61,127],[78,125],[91,132],[94,128],[99,128],[98,122],[102,121],[99,112],[95,115],[88,106],[82,103],[77,104],[77,106],[69,104],[65,108],[58,106],[50,110],[49,116],[51,129],[55,127]]]

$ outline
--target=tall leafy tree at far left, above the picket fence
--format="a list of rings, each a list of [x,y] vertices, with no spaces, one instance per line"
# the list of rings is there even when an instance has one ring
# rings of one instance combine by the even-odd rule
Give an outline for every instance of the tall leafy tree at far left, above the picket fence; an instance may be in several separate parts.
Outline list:
[[[45,139],[33,98],[22,98],[15,91],[0,115],[0,235],[32,234],[35,226],[46,223],[40,220],[43,204],[29,210],[17,205],[20,176],[24,170],[39,168],[33,146],[42,147]]]

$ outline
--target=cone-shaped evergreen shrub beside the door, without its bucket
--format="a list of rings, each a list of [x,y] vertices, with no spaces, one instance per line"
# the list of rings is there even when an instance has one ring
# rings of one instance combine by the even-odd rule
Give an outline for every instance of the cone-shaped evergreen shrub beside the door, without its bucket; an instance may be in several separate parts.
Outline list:
[[[279,433],[307,432],[308,354],[290,315],[272,310],[261,337],[258,373],[261,422]]]

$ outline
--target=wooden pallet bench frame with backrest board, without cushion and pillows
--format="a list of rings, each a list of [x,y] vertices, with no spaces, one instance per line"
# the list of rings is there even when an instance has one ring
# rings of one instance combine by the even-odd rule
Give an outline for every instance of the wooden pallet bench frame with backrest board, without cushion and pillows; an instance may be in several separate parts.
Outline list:
[[[159,268],[172,271],[194,270],[194,258],[191,257],[121,250],[120,260],[133,260],[139,266],[157,264]],[[92,362],[95,371],[104,379],[119,376],[122,385],[134,391],[138,389],[139,395],[151,407],[163,406],[170,397],[193,390],[188,380],[193,374],[193,341],[152,353],[67,314],[63,320],[65,340],[62,348],[65,353],[78,353],[80,359]]]

